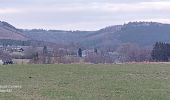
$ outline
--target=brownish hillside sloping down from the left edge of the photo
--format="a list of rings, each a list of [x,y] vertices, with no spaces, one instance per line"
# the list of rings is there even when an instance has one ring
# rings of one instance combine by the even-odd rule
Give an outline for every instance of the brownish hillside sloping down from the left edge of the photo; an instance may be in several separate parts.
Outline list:
[[[26,41],[28,38],[21,34],[12,25],[0,21],[0,39],[22,40]]]

